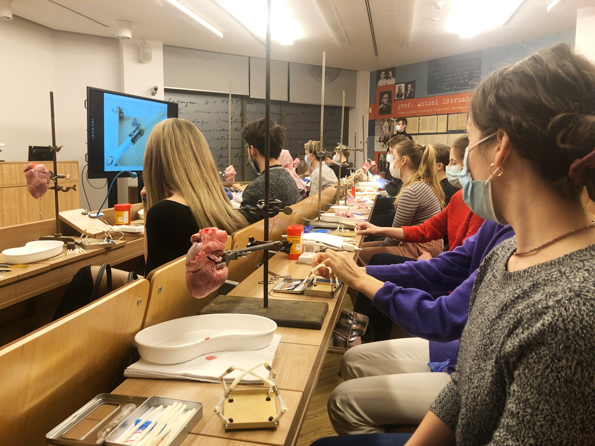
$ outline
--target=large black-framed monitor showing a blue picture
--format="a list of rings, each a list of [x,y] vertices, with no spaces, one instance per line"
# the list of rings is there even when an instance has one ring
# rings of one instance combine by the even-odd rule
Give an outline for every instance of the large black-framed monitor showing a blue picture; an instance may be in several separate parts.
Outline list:
[[[142,171],[149,134],[160,121],[177,117],[177,103],[87,87],[89,177]]]

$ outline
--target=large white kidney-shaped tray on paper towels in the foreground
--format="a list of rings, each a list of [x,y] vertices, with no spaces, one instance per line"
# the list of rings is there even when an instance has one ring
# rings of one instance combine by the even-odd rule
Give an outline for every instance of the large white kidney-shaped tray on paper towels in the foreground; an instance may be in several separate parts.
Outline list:
[[[173,319],[134,337],[142,359],[177,364],[214,351],[259,350],[271,341],[277,323],[256,315],[217,314]]]

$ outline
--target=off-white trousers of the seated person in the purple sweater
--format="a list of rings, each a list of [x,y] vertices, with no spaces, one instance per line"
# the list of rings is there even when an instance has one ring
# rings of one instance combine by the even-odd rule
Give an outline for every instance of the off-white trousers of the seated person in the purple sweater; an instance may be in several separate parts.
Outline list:
[[[429,343],[392,339],[352,347],[343,356],[345,382],[328,398],[328,416],[339,435],[386,432],[386,425],[421,423],[450,381],[432,373]]]

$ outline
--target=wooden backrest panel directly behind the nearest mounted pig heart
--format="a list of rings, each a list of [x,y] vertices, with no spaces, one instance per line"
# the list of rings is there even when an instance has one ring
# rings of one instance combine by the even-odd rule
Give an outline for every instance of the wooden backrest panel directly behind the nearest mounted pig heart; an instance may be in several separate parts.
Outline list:
[[[231,236],[228,235],[226,249],[230,248]],[[151,285],[142,328],[171,319],[194,316],[212,299],[209,296],[195,299],[186,288],[186,256],[152,271],[147,278]]]

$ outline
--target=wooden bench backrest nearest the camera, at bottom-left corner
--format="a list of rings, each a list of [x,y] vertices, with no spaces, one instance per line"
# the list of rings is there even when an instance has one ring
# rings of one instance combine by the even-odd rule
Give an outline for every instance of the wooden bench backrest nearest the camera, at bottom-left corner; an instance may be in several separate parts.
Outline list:
[[[112,390],[129,365],[148,293],[146,279],[131,282],[0,350],[2,444],[45,445],[51,429]]]

